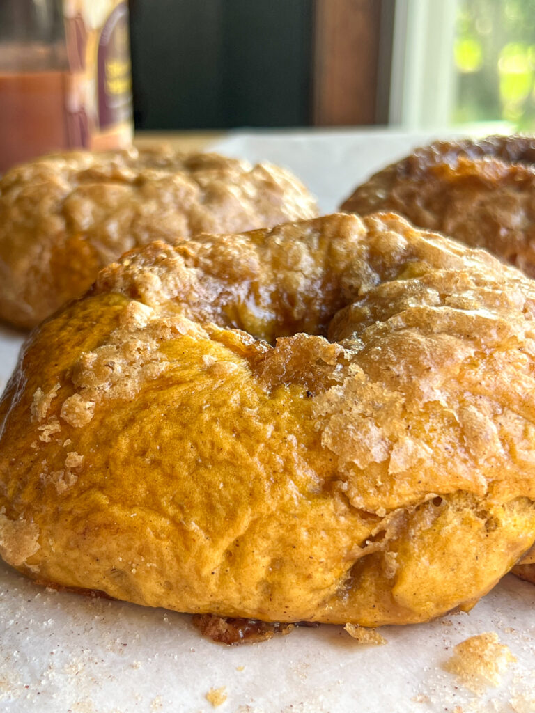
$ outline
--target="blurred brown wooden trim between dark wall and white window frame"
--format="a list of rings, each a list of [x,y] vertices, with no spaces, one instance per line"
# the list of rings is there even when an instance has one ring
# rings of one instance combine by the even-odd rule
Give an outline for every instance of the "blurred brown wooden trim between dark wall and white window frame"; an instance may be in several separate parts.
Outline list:
[[[387,123],[394,0],[315,0],[312,118]]]

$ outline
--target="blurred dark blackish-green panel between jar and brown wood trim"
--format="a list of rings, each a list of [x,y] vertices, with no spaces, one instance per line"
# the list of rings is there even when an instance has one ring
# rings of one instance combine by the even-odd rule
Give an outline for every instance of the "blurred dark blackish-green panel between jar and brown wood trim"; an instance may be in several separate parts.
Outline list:
[[[131,0],[136,128],[307,125],[313,0]]]

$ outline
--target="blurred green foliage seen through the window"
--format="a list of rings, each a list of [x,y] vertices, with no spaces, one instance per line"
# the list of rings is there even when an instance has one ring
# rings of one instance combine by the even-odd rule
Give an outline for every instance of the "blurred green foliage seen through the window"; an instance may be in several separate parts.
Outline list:
[[[535,0],[459,0],[455,123],[535,130]]]

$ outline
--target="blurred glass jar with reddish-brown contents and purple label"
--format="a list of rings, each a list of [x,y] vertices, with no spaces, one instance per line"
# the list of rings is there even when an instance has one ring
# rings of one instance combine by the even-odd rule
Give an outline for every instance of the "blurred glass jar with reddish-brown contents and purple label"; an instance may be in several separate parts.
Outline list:
[[[133,133],[124,0],[1,0],[0,172]]]

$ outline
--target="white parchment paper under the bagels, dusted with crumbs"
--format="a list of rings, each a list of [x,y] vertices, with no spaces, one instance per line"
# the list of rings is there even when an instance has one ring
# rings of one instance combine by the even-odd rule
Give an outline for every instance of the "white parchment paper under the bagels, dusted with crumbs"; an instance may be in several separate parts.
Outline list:
[[[363,178],[427,135],[235,134],[215,148],[297,173],[334,210]],[[0,328],[0,386],[20,334]],[[1,713],[533,713],[535,586],[508,575],[469,614],[384,627],[385,646],[359,646],[341,627],[299,629],[257,645],[204,640],[190,617],[57,593],[0,563]],[[452,647],[495,631],[517,661],[477,695],[442,665]],[[460,707],[460,708],[456,708]]]

